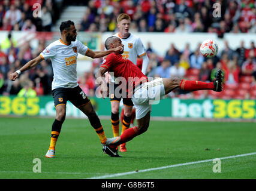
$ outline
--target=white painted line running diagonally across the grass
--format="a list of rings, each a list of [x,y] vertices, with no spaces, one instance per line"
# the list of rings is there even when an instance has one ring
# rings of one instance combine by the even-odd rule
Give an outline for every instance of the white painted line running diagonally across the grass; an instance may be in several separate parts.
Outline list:
[[[223,159],[231,159],[231,158],[237,158],[237,157],[242,157],[242,156],[250,156],[250,155],[256,155],[256,152],[246,153],[246,154],[242,154],[242,155],[225,156],[225,157],[218,158],[218,159],[223,160]],[[121,172],[121,173],[116,173],[116,174],[109,174],[109,175],[101,175],[101,176],[98,176],[98,177],[91,177],[91,178],[86,178],[86,179],[103,179],[103,178],[120,177],[122,175],[136,174],[138,172],[162,170],[162,169],[165,169],[165,168],[181,167],[181,166],[199,164],[199,163],[210,162],[210,161],[213,161],[213,159],[207,159],[207,160],[195,161],[195,162],[185,162],[185,163],[182,163],[182,164],[168,165],[168,166],[165,166],[165,167],[147,168],[147,169],[144,169],[144,170],[138,170],[137,172],[136,171],[130,171],[130,172]]]

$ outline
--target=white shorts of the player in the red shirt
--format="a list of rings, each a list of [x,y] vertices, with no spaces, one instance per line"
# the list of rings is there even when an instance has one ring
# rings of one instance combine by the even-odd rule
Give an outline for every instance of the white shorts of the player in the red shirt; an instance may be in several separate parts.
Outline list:
[[[162,78],[154,79],[141,85],[131,98],[135,109],[136,119],[143,118],[151,111],[152,104],[158,104],[161,97],[165,95],[164,82]]]

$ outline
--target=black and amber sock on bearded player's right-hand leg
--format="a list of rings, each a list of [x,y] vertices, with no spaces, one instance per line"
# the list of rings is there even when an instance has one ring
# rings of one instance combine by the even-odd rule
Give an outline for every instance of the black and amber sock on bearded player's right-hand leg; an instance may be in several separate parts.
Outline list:
[[[105,135],[103,127],[101,126],[101,122],[100,122],[100,119],[98,118],[98,115],[96,115],[95,113],[95,115],[88,116],[88,119],[92,127],[95,129],[98,137],[100,138],[101,143],[105,144],[107,141],[107,137]]]

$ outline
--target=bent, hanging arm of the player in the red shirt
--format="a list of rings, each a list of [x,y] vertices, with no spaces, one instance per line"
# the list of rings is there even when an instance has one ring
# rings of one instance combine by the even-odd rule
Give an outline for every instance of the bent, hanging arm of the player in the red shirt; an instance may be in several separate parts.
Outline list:
[[[107,72],[107,69],[105,67],[100,67],[96,74],[96,83],[100,84],[100,93],[103,96],[103,98],[109,95],[109,88],[107,87],[107,82],[106,82],[106,79],[104,78],[104,73],[106,72]]]

